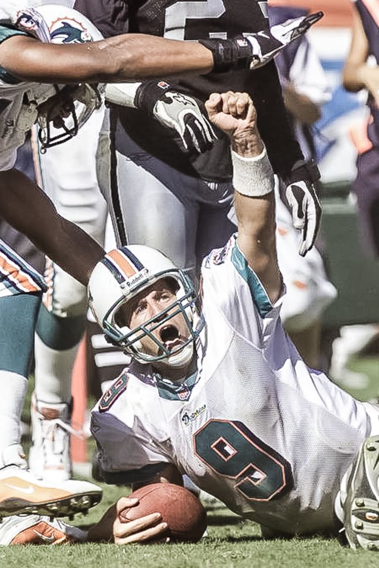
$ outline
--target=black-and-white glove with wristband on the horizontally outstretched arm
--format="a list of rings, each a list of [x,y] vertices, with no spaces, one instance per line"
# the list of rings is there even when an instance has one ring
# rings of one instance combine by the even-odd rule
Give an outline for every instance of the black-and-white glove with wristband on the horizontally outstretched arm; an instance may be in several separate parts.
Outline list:
[[[213,53],[214,72],[230,69],[257,69],[274,59],[286,45],[304,35],[322,18],[323,12],[315,12],[300,18],[292,18],[259,32],[243,34],[234,39],[201,39],[199,43]]]

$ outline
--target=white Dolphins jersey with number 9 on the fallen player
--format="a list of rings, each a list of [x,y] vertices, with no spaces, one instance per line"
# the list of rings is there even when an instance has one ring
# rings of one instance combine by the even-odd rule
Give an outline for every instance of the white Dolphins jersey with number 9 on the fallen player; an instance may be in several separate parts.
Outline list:
[[[232,511],[290,534],[334,531],[339,482],[378,412],[309,369],[232,237],[202,266],[206,327],[181,385],[131,364],[92,415],[110,473],[174,463]]]

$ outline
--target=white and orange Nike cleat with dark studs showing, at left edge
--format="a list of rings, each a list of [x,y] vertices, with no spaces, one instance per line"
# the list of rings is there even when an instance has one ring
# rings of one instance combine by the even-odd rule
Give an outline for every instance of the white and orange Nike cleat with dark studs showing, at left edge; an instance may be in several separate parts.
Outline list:
[[[72,517],[101,501],[102,490],[86,481],[69,479],[53,485],[15,465],[0,469],[0,517],[49,515]]]

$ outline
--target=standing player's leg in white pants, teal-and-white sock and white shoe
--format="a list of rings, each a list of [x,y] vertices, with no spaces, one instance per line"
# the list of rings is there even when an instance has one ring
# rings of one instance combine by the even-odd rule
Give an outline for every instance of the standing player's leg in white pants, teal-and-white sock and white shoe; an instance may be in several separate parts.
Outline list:
[[[95,164],[102,119],[103,111],[95,112],[76,137],[39,156],[41,184],[57,210],[99,243],[106,219]],[[56,481],[71,477],[71,375],[86,325],[87,294],[84,286],[48,259],[45,278],[49,290],[35,338],[30,466],[40,478]]]

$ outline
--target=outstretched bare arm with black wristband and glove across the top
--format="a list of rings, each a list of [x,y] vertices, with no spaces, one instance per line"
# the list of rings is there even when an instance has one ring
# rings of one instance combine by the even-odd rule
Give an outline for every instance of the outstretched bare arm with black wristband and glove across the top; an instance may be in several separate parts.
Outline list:
[[[0,65],[24,81],[42,83],[122,82],[165,75],[208,73],[263,66],[322,12],[288,20],[265,34],[238,39],[176,41],[123,34],[84,44],[51,44],[12,36],[0,45]]]

